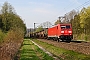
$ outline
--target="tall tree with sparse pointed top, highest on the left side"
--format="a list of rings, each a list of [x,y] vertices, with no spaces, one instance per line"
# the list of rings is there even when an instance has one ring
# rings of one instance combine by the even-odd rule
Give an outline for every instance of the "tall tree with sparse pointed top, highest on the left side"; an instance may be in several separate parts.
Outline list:
[[[1,9],[2,13],[2,22],[3,22],[3,31],[10,30],[11,21],[14,19],[12,16],[15,15],[14,8],[8,3],[5,2]]]

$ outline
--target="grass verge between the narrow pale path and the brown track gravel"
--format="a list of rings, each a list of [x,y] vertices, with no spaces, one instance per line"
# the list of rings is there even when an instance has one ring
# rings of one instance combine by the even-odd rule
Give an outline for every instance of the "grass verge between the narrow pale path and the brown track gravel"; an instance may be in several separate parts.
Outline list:
[[[53,53],[59,58],[62,58],[62,60],[90,60],[90,55],[85,55],[85,54],[78,53],[72,50],[58,48],[51,44],[48,44],[48,43],[45,43],[36,39],[33,41],[39,44],[40,46],[44,47],[47,51]]]

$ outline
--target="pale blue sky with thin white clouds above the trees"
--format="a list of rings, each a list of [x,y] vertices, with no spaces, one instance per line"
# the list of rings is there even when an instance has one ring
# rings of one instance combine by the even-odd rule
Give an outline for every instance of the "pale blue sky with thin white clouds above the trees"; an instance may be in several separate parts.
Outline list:
[[[14,7],[27,28],[33,28],[34,23],[38,26],[46,21],[53,24],[59,16],[73,9],[77,11],[90,6],[90,0],[0,0],[0,9],[5,1]]]

